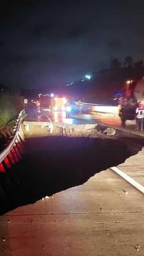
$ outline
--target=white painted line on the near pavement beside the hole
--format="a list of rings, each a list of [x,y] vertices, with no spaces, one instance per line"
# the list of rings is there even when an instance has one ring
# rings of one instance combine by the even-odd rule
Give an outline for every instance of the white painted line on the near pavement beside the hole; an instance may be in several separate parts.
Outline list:
[[[137,188],[139,191],[141,191],[144,194],[144,186],[132,179],[130,176],[128,176],[126,173],[119,170],[117,167],[110,167],[111,170],[119,174],[123,179],[128,181],[131,185],[133,185],[135,188]]]

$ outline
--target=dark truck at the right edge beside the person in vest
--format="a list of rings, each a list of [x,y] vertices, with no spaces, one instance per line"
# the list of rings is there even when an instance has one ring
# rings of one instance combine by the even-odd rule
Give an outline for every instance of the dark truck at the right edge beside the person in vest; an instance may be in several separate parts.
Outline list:
[[[139,101],[144,105],[144,77],[139,81],[128,80],[126,82],[119,110],[122,124],[125,124],[126,120],[136,119],[136,108]]]

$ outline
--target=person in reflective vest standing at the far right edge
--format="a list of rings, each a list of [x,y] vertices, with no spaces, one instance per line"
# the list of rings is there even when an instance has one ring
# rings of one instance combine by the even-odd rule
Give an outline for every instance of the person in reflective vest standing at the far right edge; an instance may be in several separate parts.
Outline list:
[[[137,119],[136,119],[136,130],[143,131],[144,122],[144,107],[141,101],[138,102],[138,107],[136,109]]]

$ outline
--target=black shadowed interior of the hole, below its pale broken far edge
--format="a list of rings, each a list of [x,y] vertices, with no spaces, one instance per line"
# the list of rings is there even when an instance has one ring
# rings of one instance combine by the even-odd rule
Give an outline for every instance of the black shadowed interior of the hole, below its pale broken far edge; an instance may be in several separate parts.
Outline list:
[[[8,172],[13,171],[16,178],[8,210],[81,185],[95,173],[124,162],[144,145],[144,140],[125,134],[101,138],[98,129],[92,137],[49,135],[26,138],[22,159]]]

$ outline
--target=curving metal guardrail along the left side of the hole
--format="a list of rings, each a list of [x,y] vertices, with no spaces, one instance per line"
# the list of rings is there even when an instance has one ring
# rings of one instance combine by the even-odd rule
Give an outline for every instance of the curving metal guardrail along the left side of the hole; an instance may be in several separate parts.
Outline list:
[[[4,159],[9,155],[10,151],[13,149],[13,146],[15,145],[16,141],[20,141],[18,136],[19,136],[19,128],[22,122],[22,114],[25,112],[25,110],[22,110],[19,113],[18,118],[16,119],[16,125],[13,129],[13,131],[15,131],[15,134],[11,136],[11,141],[10,143],[0,152],[0,172],[4,171],[4,167],[2,165],[2,161],[4,161]]]

